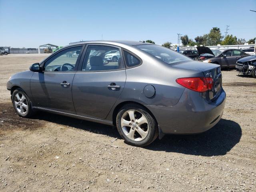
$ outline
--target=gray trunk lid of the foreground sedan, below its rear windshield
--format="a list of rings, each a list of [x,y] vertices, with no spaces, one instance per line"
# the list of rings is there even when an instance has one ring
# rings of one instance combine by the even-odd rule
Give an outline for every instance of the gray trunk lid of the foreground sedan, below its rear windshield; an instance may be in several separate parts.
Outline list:
[[[182,68],[186,70],[197,70],[204,74],[204,77],[211,77],[213,80],[212,89],[208,90],[208,100],[214,100],[218,97],[219,92],[222,89],[222,74],[220,65],[203,63],[203,62],[186,62],[182,64],[174,65],[175,68]],[[187,77],[190,77],[189,74]]]

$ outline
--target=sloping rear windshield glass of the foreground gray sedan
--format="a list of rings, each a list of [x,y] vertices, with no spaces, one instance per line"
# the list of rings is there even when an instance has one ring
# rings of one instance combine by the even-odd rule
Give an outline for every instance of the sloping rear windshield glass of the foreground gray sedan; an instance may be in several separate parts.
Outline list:
[[[168,64],[175,64],[178,62],[188,62],[191,61],[190,58],[176,52],[173,50],[170,50],[168,48],[158,46],[158,45],[135,45],[137,48],[155,56],[158,59],[161,59],[162,61],[168,63]]]

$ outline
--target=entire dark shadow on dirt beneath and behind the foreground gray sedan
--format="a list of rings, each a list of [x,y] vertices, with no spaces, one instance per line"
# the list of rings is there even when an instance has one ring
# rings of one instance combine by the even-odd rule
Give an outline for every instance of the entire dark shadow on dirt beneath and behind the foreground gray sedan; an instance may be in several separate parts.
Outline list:
[[[103,134],[122,139],[114,126],[47,112],[39,112],[34,118],[86,130],[95,134]],[[204,133],[195,135],[165,135],[162,140],[156,139],[145,148],[154,151],[176,152],[190,155],[218,156],[225,155],[229,152],[240,141],[241,136],[242,130],[238,123],[232,120],[221,119],[218,124]]]

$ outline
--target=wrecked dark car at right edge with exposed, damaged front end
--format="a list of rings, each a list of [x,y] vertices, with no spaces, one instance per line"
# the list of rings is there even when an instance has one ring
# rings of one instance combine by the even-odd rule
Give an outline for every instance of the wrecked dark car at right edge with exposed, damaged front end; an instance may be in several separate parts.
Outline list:
[[[252,75],[256,78],[256,54],[238,60],[236,62],[236,71],[242,74]]]

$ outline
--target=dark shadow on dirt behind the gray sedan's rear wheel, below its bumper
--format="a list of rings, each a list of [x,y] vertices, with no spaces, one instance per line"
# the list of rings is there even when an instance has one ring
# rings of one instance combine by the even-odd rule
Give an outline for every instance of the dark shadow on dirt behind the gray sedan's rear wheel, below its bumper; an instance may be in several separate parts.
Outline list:
[[[242,130],[238,123],[221,119],[210,130],[195,135],[166,135],[146,148],[200,156],[225,155],[239,141]]]

